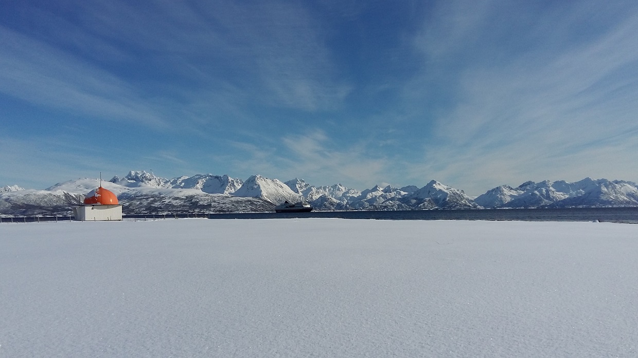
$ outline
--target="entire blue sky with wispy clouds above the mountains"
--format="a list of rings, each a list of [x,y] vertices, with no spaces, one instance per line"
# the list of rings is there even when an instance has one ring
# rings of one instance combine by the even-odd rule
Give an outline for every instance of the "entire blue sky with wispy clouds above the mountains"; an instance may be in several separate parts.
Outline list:
[[[0,185],[638,182],[632,1],[4,1]]]

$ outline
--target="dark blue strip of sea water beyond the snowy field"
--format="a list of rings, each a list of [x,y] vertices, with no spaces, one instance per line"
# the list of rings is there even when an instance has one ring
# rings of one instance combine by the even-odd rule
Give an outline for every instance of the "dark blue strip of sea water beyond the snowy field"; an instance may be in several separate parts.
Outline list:
[[[359,218],[378,220],[522,220],[638,223],[638,208],[313,211],[310,213],[223,213],[210,218]]]

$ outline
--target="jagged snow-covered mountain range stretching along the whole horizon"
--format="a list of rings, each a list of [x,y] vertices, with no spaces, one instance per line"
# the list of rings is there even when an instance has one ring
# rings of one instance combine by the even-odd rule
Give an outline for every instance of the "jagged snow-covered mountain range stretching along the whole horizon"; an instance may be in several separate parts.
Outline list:
[[[146,171],[130,171],[108,182],[84,178],[45,190],[0,187],[0,215],[71,215],[71,207],[99,185],[114,192],[128,214],[274,211],[274,206],[283,201],[308,201],[315,210],[638,206],[638,185],[623,180],[525,182],[516,188],[501,185],[470,197],[436,180],[421,188],[375,185],[359,191],[339,183],[316,187],[299,178],[281,182],[253,175],[244,181],[228,175],[198,174],[168,179]]]

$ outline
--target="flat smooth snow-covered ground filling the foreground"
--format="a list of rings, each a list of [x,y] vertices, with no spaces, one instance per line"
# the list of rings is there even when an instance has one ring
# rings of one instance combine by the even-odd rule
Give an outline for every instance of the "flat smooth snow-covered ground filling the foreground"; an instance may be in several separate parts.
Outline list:
[[[638,225],[0,224],[4,357],[637,357]]]

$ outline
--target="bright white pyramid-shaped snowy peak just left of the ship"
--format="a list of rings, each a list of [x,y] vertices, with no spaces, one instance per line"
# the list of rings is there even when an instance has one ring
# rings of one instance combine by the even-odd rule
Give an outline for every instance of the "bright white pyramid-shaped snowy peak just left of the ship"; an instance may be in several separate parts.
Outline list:
[[[265,178],[261,175],[253,175],[246,179],[241,188],[235,190],[233,194],[241,197],[258,197],[273,204],[281,204],[284,201],[295,203],[304,199],[280,180]]]

